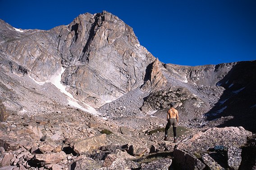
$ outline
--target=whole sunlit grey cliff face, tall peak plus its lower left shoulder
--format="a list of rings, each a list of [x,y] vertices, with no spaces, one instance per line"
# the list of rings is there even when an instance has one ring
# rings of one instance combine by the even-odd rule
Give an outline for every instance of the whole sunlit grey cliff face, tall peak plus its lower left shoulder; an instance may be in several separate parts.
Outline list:
[[[42,82],[64,67],[62,83],[67,90],[95,107],[142,86],[147,66],[155,61],[133,29],[105,11],[81,14],[68,26],[49,31],[19,32],[1,22],[5,70]]]

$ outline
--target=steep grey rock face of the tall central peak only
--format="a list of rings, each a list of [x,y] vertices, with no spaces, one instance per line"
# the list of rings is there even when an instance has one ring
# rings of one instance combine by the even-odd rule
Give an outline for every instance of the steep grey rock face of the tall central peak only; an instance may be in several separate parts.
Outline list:
[[[62,81],[73,96],[93,106],[140,87],[155,60],[132,28],[107,12],[79,15],[60,36],[58,49],[68,66]]]

